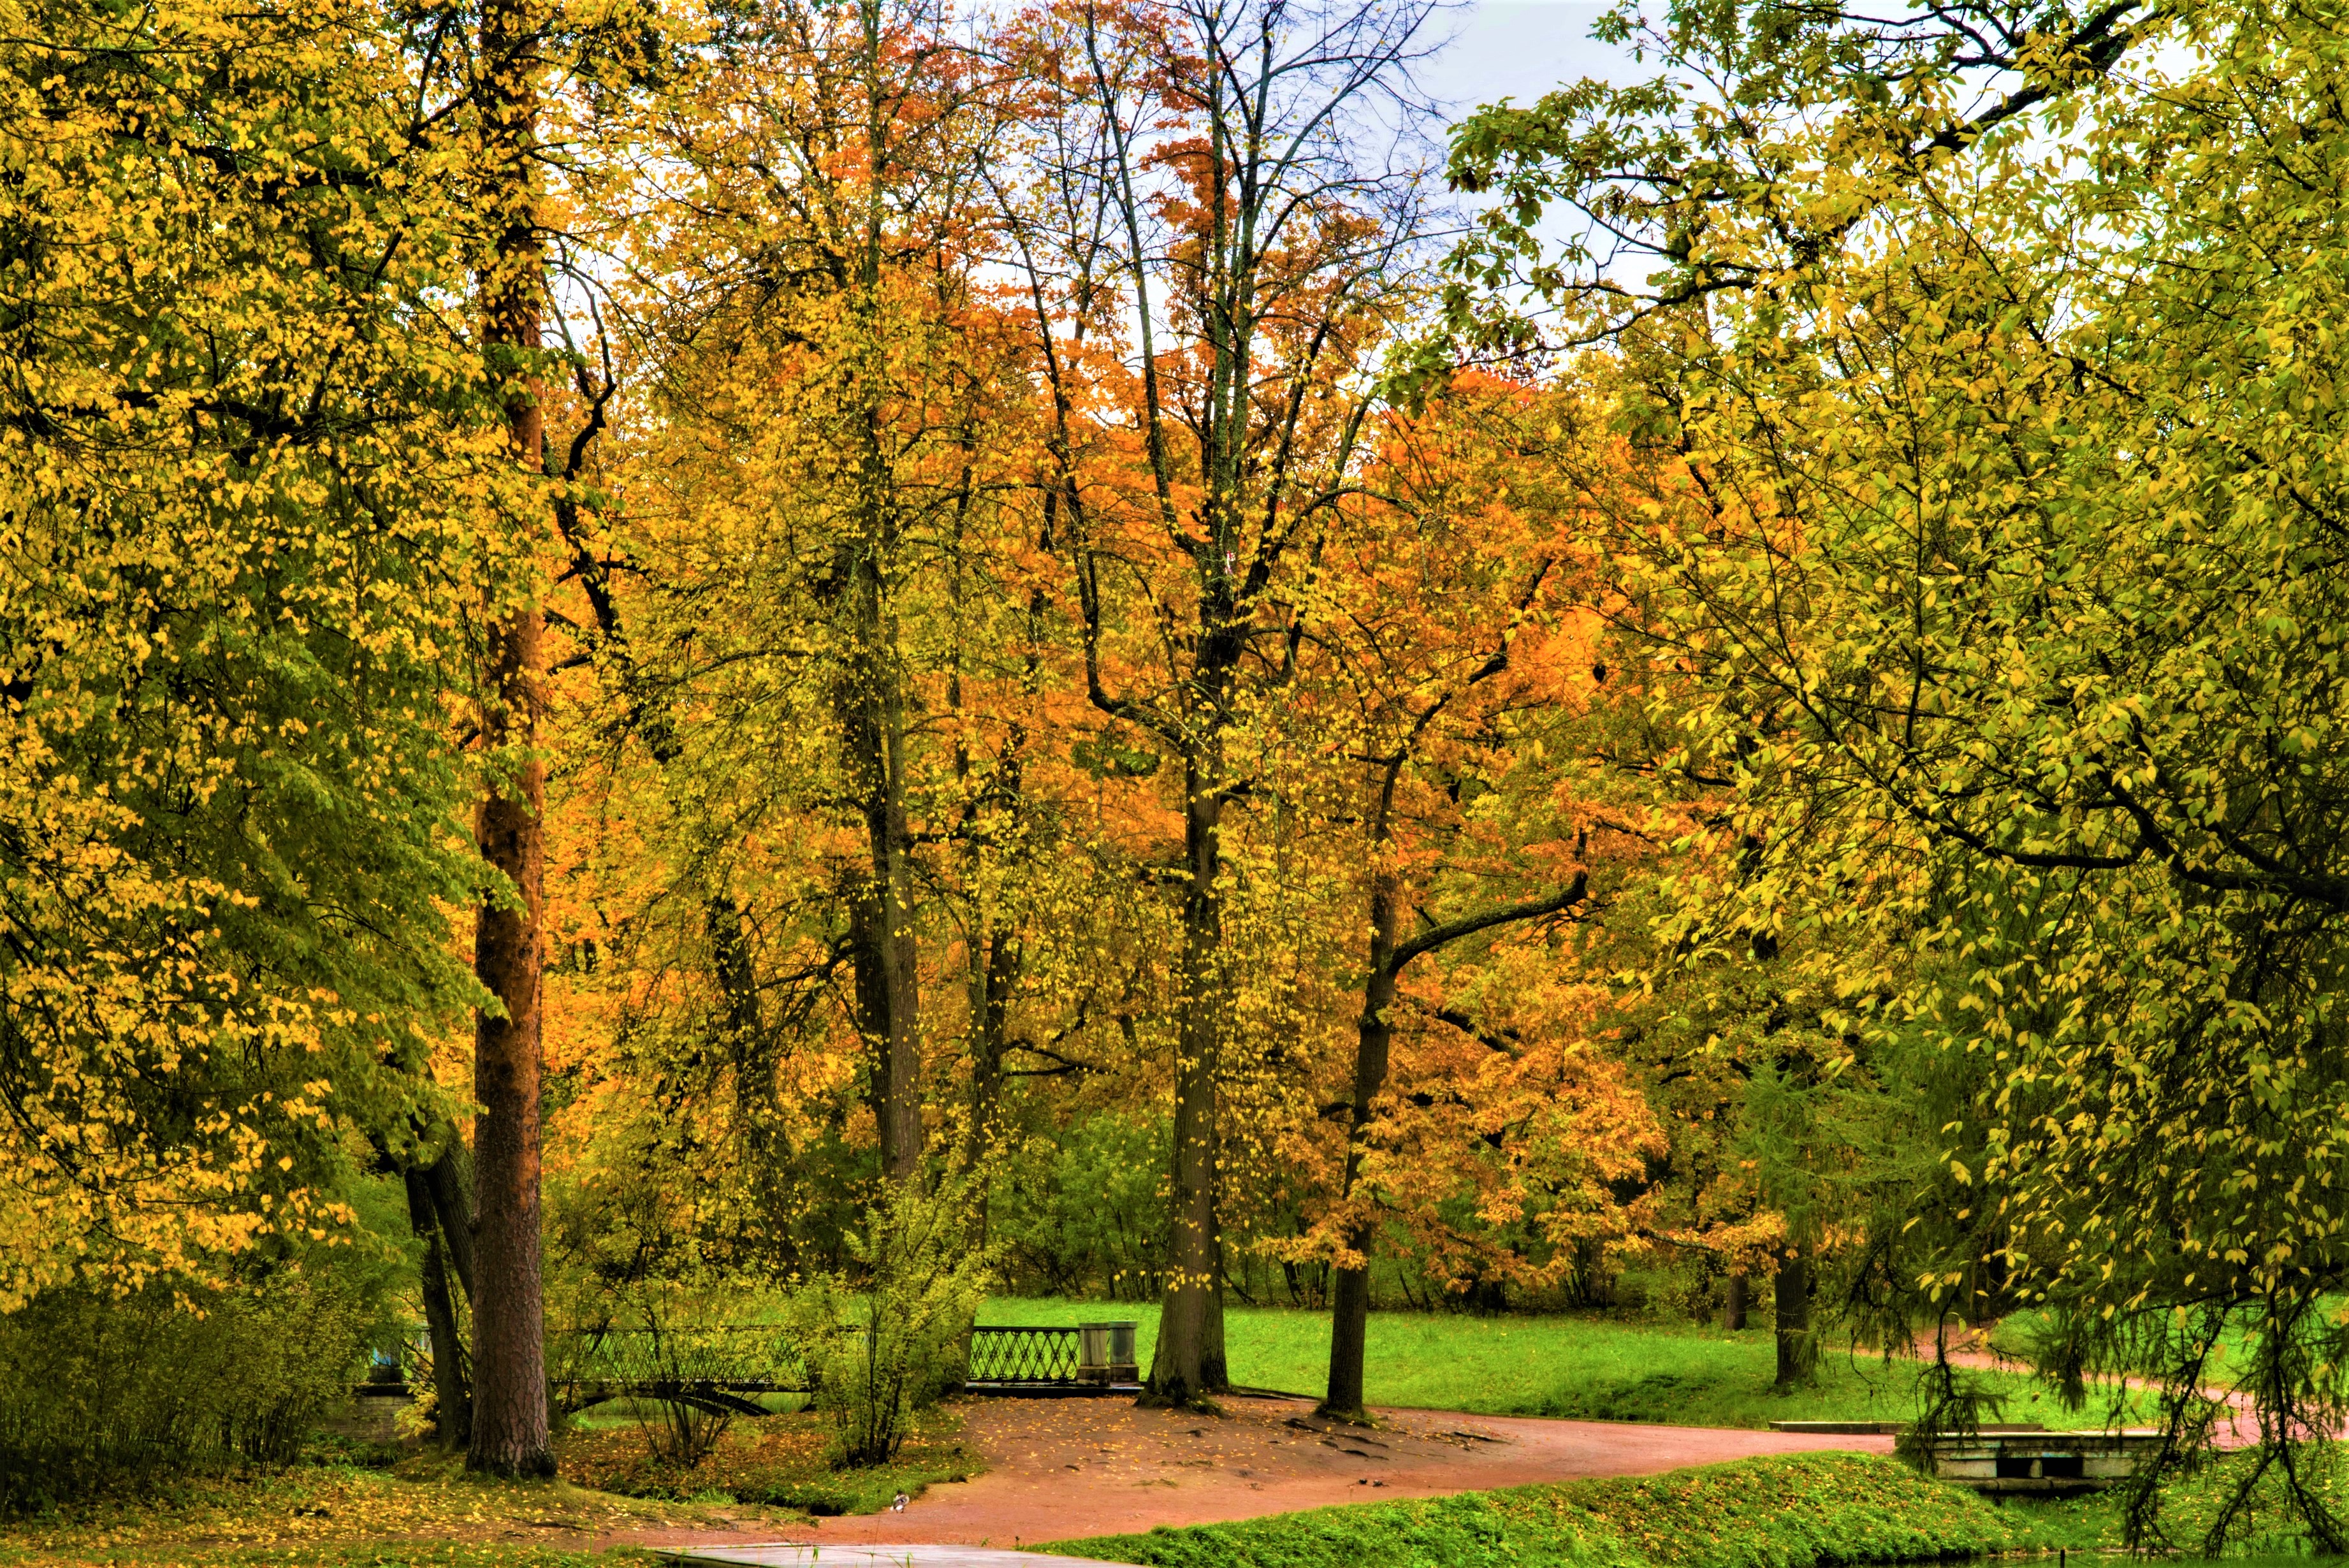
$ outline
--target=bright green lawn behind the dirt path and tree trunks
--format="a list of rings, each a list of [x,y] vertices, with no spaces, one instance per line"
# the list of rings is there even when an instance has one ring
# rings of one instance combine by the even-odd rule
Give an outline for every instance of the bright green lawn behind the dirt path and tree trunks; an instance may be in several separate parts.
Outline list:
[[[996,1298],[982,1324],[1076,1324],[1132,1319],[1149,1371],[1156,1303]],[[1320,1397],[1330,1373],[1330,1314],[1229,1307],[1231,1380]],[[1374,1312],[1365,1385],[1372,1404],[1480,1415],[1574,1415],[1661,1420],[1698,1427],[1766,1427],[1773,1420],[1907,1420],[1914,1366],[1870,1352],[1825,1352],[1816,1387],[1771,1390],[1769,1331],[1611,1324],[1590,1317],[1459,1317]],[[2027,1378],[1992,1373],[2006,1392],[2004,1420],[2069,1418]],[[2095,1425],[2091,1411],[2088,1425]]]

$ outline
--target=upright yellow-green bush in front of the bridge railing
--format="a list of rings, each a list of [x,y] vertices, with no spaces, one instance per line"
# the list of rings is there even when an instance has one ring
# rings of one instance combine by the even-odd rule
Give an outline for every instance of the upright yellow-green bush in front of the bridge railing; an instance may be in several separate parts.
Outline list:
[[[815,1404],[839,1430],[843,1465],[888,1465],[911,1413],[963,1380],[987,1296],[984,1251],[970,1232],[961,1190],[895,1185],[864,1211],[864,1235],[848,1237],[862,1289],[824,1279],[801,1296],[794,1317],[815,1364]]]

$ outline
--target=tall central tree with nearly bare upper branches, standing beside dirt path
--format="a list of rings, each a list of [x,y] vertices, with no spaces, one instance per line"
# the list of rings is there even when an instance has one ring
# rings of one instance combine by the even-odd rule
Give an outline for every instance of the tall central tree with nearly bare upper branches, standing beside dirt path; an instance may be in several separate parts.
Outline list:
[[[1179,768],[1182,958],[1174,1218],[1156,1401],[1226,1383],[1217,1216],[1219,1070],[1238,974],[1226,951],[1226,812],[1240,739],[1290,664],[1313,542],[1346,491],[1369,371],[1419,244],[1407,148],[1421,5],[1071,7],[1050,68],[1031,225],[1038,329],[1064,303],[1132,322],[1118,380],[1132,484],[1048,477],[1073,575],[1083,683],[1120,732]],[[1066,249],[1043,249],[1059,242]],[[1066,300],[1062,289],[1073,289]],[[1041,343],[1059,446],[1085,369]],[[1123,744],[1123,742],[1120,742]]]

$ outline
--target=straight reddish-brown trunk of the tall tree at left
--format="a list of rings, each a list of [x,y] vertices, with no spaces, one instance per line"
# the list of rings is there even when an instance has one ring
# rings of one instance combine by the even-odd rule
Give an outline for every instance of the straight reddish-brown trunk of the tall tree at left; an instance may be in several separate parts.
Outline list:
[[[484,343],[503,376],[500,350],[538,350],[545,256],[531,176],[538,131],[536,28],[521,0],[482,9],[486,197],[498,214],[498,249],[482,279]],[[507,387],[507,441],[524,472],[545,465],[545,430],[533,385]],[[498,1000],[474,1023],[474,1397],[465,1465],[503,1476],[552,1476],[547,1441],[545,1314],[538,1277],[538,986],[545,969],[547,777],[538,758],[538,702],[545,676],[540,613],[500,613],[486,638],[491,690],[482,704],[482,753],[512,765],[482,800],[482,857],[519,897],[482,906],[474,974]]]

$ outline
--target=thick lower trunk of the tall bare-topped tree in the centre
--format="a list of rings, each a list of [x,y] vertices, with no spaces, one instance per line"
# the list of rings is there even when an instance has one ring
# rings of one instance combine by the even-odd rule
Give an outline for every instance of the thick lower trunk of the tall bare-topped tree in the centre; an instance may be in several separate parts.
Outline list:
[[[1224,1045],[1224,906],[1219,770],[1191,761],[1184,850],[1182,1030],[1174,1042],[1174,1192],[1167,1289],[1158,1312],[1146,1404],[1189,1406],[1226,1387],[1221,1232],[1217,1225],[1217,1063]]]

